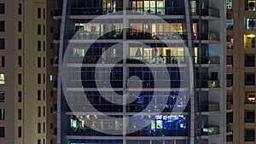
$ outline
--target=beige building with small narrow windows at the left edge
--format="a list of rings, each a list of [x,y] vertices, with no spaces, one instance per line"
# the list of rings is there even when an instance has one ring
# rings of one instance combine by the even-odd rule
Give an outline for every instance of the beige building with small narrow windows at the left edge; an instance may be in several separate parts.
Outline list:
[[[0,143],[52,144],[55,2],[0,1]],[[55,93],[55,94],[54,94]]]

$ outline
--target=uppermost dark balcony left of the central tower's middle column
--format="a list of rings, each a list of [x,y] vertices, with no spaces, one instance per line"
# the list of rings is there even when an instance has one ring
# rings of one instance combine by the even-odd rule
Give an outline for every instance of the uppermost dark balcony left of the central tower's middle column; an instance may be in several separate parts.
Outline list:
[[[120,8],[72,8],[67,9],[68,14],[70,15],[102,15],[108,13],[115,13],[117,11],[123,10],[123,7]],[[118,13],[120,14],[120,13]]]

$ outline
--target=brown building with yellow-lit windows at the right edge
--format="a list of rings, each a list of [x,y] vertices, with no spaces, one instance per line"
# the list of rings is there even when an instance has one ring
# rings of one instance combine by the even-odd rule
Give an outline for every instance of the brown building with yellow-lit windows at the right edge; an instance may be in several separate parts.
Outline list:
[[[227,0],[227,143],[255,143],[256,1]]]

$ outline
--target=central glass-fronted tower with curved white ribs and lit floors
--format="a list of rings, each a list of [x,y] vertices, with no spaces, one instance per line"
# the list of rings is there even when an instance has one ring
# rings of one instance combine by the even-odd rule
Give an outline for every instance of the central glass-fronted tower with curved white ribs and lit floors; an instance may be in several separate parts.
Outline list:
[[[225,143],[225,3],[60,0],[57,143]]]

